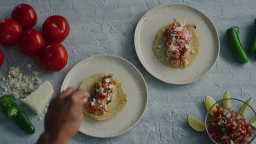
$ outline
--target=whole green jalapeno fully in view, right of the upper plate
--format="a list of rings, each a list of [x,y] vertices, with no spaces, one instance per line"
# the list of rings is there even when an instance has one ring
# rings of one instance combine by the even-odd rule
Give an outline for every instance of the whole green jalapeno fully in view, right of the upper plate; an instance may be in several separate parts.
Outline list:
[[[230,27],[227,31],[228,41],[230,49],[232,50],[235,57],[238,59],[241,63],[247,63],[248,62],[248,56],[241,45],[241,42],[239,40],[239,29],[238,27]]]

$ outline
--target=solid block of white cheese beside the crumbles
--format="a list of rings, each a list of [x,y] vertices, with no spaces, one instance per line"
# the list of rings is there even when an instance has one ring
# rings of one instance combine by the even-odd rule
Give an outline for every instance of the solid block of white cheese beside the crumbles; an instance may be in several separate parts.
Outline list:
[[[21,99],[21,104],[38,115],[52,99],[53,92],[52,84],[49,81],[45,81],[37,90],[32,92],[25,99]]]

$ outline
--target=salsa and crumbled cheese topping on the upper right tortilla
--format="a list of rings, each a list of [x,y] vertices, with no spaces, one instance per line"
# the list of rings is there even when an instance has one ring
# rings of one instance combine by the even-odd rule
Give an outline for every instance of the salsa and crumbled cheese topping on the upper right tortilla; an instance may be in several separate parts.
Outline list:
[[[184,66],[188,64],[188,56],[195,53],[190,46],[191,38],[192,34],[185,24],[175,21],[172,25],[165,27],[164,42],[158,45],[158,48],[166,49],[167,61],[173,66]]]

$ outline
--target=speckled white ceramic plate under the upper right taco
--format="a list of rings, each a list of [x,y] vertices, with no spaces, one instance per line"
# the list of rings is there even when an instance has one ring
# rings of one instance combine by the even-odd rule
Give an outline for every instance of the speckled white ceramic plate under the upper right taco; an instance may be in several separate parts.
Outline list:
[[[196,60],[185,69],[174,69],[161,63],[153,50],[159,29],[174,18],[197,26],[200,52]],[[214,24],[201,11],[184,4],[165,4],[149,10],[138,22],[135,49],[145,69],[155,78],[172,84],[186,84],[199,80],[213,67],[219,56],[219,36]]]

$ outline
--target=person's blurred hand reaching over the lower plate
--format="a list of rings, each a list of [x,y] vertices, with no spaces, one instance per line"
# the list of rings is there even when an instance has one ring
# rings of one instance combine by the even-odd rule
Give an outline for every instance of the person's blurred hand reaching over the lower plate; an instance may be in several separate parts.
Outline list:
[[[89,96],[88,92],[68,88],[53,99],[45,117],[45,132],[37,144],[67,144],[79,130]]]

